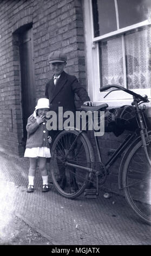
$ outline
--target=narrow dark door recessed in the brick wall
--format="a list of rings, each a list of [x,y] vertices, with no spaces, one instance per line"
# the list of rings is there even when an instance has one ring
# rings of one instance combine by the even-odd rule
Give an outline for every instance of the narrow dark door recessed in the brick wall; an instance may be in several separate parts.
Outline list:
[[[27,139],[28,117],[35,109],[35,81],[34,81],[34,56],[32,28],[24,31],[19,36],[20,62],[21,62],[21,82],[22,82],[22,115],[23,115],[23,142]]]

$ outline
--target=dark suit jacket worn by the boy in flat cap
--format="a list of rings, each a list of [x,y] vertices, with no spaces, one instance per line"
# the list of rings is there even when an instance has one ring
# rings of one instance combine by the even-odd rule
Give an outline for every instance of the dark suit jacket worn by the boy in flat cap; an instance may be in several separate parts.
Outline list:
[[[75,112],[75,93],[80,97],[82,102],[90,101],[87,90],[78,82],[75,76],[68,75],[64,71],[54,85],[54,77],[45,87],[45,96],[49,99],[50,110],[58,113],[58,107],[63,107],[65,111]]]

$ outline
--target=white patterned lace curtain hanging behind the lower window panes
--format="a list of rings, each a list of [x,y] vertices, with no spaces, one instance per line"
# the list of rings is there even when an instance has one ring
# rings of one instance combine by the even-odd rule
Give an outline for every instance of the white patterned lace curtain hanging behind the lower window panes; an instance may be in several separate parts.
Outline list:
[[[151,28],[124,34],[123,58],[122,36],[100,42],[101,86],[119,84],[124,86],[123,60],[126,61],[127,88],[150,88],[151,84]]]

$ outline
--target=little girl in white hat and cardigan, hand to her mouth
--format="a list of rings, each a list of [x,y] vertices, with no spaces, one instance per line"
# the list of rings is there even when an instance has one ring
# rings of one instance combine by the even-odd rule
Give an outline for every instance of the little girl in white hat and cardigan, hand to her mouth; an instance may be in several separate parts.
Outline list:
[[[39,168],[41,170],[43,186],[42,192],[49,191],[48,186],[48,172],[46,169],[47,157],[51,157],[49,144],[51,137],[48,136],[46,128],[46,114],[49,111],[49,100],[41,98],[37,102],[35,111],[28,118],[27,129],[27,144],[24,157],[29,157],[29,184],[27,192],[34,192],[34,177],[37,168],[37,160],[39,161]]]

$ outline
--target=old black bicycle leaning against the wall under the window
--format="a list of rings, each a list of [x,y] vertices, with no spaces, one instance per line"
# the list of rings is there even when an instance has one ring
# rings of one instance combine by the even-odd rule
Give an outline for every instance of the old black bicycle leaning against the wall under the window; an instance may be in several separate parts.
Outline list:
[[[87,131],[63,130],[58,133],[51,149],[52,182],[62,196],[74,199],[80,196],[91,184],[96,182],[96,193],[104,184],[109,168],[121,156],[119,168],[119,188],[124,191],[127,202],[142,218],[151,223],[151,131],[148,130],[145,118],[145,105],[149,102],[147,95],[141,96],[126,88],[111,84],[100,89],[123,90],[133,96],[132,106],[137,120],[137,129],[130,132],[106,163],[102,162],[98,138],[94,136],[96,155]],[[108,93],[108,94],[109,94]],[[107,94],[107,95],[108,95]],[[106,96],[107,96],[106,95]],[[83,111],[105,111],[108,105],[82,106]],[[93,132],[95,132],[93,130]]]

